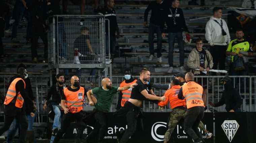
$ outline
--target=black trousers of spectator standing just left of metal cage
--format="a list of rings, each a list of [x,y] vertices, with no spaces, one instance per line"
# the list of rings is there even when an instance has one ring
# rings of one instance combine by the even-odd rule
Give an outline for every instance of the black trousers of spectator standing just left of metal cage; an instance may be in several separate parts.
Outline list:
[[[44,60],[47,60],[48,57],[48,39],[47,39],[47,33],[44,32],[38,32],[33,34],[32,38],[32,48],[31,48],[31,55],[32,59],[37,58],[37,45],[38,45],[38,39],[39,37],[42,39],[44,44]]]

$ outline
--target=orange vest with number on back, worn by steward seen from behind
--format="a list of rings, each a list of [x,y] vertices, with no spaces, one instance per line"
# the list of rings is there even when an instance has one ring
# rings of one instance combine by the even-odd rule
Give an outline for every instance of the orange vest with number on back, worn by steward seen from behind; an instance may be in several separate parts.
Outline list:
[[[189,81],[182,86],[182,93],[186,99],[188,109],[195,106],[204,107],[202,99],[203,87],[201,85],[194,81]]]

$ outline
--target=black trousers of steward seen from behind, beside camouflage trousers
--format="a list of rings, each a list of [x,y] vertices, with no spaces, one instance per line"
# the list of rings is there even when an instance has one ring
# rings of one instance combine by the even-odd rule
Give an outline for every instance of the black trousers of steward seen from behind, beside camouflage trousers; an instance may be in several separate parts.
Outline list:
[[[203,141],[202,134],[198,130],[198,125],[203,119],[204,107],[196,106],[188,109],[187,115],[184,119],[184,131],[188,134],[194,142]]]

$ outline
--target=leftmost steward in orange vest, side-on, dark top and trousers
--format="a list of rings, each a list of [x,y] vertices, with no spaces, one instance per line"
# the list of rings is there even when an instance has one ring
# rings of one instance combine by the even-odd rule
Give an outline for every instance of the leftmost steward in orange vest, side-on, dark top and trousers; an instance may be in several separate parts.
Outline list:
[[[4,99],[5,105],[5,121],[4,125],[0,128],[0,135],[7,131],[14,119],[19,122],[21,126],[20,130],[20,143],[25,143],[26,133],[28,129],[28,121],[26,118],[26,112],[23,108],[24,100],[29,104],[29,107],[34,110],[35,106],[33,101],[27,95],[25,90],[26,83],[24,79],[28,77],[27,70],[25,68],[18,69],[18,75],[14,76],[9,83],[8,91]],[[34,113],[30,114],[32,117]]]

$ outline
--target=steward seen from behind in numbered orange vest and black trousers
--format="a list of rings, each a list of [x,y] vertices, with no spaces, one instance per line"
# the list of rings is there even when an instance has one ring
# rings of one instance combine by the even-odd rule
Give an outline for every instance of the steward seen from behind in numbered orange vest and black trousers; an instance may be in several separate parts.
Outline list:
[[[184,131],[195,143],[203,143],[202,134],[198,130],[198,125],[204,115],[204,103],[202,99],[203,87],[194,82],[194,74],[188,72],[185,75],[184,84],[178,94],[179,99],[185,99],[187,104],[187,114],[184,119]]]

